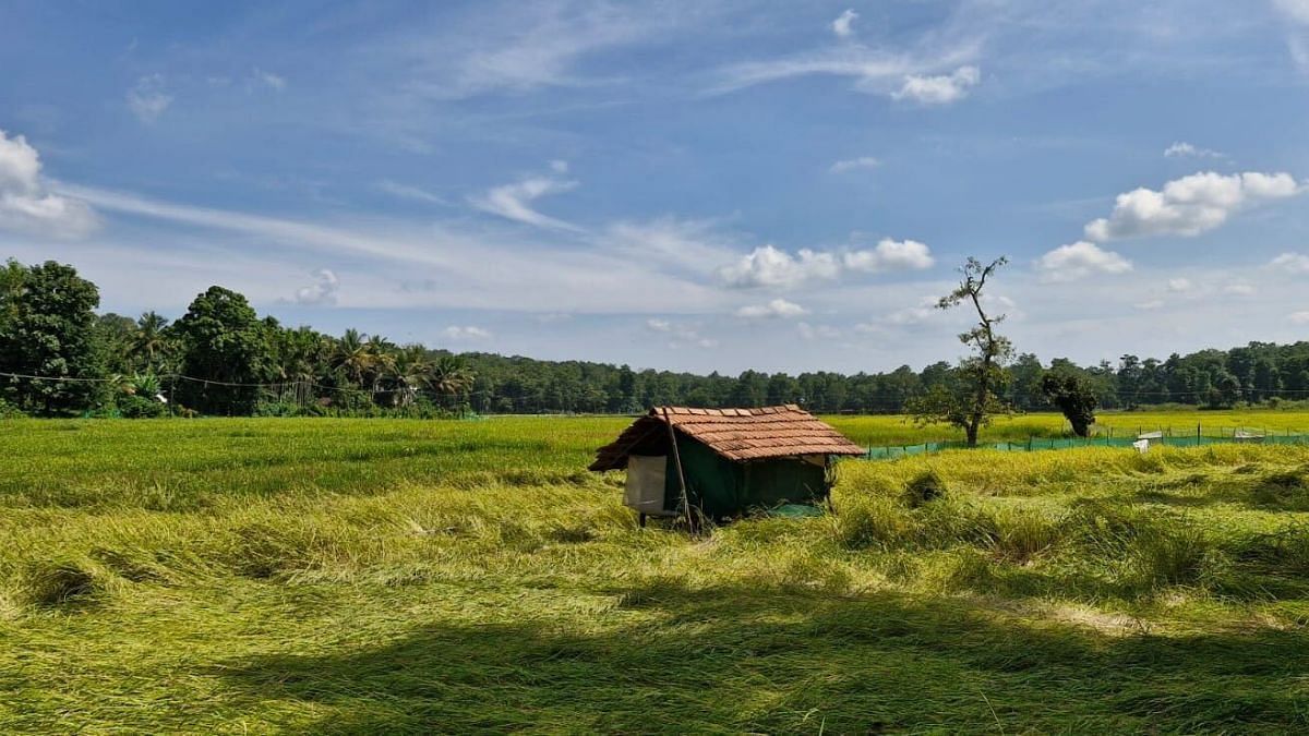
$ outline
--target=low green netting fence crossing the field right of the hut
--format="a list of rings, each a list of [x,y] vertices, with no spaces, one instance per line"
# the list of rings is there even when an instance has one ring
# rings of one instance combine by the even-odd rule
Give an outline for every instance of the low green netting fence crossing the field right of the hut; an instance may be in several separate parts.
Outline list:
[[[1195,432],[1191,435],[1155,432],[1157,436],[1148,436],[1149,445],[1157,447],[1204,447],[1216,444],[1264,444],[1264,445],[1309,445],[1309,435],[1297,432],[1266,432],[1249,430],[1225,430],[1217,436]],[[1131,449],[1141,437],[1111,435],[1094,437],[1029,437],[1026,440],[1013,440],[1003,443],[982,443],[979,449],[997,449],[1003,452],[1037,452],[1051,449],[1076,449],[1088,447],[1107,447]],[[868,448],[864,456],[868,460],[893,460],[914,454],[928,454],[950,449],[966,449],[963,440],[928,441],[912,445],[881,445]]]

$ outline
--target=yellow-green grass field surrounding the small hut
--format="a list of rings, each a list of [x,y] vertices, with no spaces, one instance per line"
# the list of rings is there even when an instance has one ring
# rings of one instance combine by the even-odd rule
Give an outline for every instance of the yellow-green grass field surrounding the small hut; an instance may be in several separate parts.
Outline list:
[[[1103,424],[1196,420],[1309,430]],[[847,461],[691,538],[584,471],[626,423],[0,422],[0,732],[1309,729],[1309,448]]]

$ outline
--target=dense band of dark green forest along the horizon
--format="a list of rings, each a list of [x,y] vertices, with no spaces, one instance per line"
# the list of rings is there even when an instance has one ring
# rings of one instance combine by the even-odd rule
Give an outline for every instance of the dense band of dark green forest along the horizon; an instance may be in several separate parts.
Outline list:
[[[674,403],[800,403],[819,413],[899,413],[946,382],[935,363],[889,373],[746,371],[740,376],[634,371],[419,344],[347,330],[340,337],[260,318],[243,296],[211,287],[175,321],[101,314],[96,284],[71,266],[0,268],[0,415],[441,415],[449,413],[635,413]],[[942,346],[944,347],[944,346]],[[1165,403],[1230,407],[1309,398],[1309,342],[1233,350],[1123,355],[1117,364],[1042,364],[1021,354],[1005,367],[1004,398],[1047,410],[1047,371],[1073,372],[1103,409]]]

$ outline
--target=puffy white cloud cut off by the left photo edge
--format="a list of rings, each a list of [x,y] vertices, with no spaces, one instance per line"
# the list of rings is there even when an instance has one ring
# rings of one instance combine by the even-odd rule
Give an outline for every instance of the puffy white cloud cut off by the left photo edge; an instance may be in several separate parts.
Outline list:
[[[21,135],[0,130],[0,228],[54,237],[80,237],[98,220],[80,199],[51,194],[41,156]]]

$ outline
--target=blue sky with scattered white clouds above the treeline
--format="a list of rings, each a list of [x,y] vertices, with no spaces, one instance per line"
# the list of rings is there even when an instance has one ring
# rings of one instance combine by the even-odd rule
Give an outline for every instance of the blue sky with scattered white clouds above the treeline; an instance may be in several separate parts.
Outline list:
[[[0,257],[636,367],[1309,338],[1309,0],[0,3]]]

